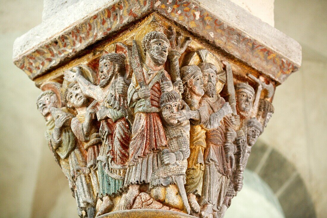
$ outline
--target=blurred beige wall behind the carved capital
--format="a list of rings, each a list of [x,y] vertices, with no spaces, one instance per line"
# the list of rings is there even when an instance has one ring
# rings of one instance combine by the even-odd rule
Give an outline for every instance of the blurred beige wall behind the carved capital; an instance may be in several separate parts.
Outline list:
[[[275,114],[260,140],[296,165],[318,217],[326,217],[327,1],[276,0],[274,19],[272,0],[234,2],[303,47],[302,68],[277,87]],[[256,5],[266,5],[269,13]],[[44,139],[45,121],[35,104],[40,90],[11,60],[14,39],[41,23],[42,9],[42,0],[0,0],[0,217],[77,217],[75,200]],[[243,196],[234,203],[249,215],[256,206],[244,202],[257,197],[246,188]]]

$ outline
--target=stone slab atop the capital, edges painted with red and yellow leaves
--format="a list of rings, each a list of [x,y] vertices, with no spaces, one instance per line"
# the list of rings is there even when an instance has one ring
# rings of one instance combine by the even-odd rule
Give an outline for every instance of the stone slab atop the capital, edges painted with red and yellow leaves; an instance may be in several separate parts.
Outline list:
[[[283,82],[301,65],[301,46],[296,41],[228,0],[145,0],[133,4],[118,0],[79,1],[60,12],[59,17],[45,20],[18,38],[13,59],[31,79],[36,78],[88,45],[154,11],[277,82]],[[114,13],[118,17],[115,18]],[[90,32],[80,35],[82,28],[90,28]],[[53,49],[60,53],[56,54]],[[44,53],[51,55],[40,58]]]

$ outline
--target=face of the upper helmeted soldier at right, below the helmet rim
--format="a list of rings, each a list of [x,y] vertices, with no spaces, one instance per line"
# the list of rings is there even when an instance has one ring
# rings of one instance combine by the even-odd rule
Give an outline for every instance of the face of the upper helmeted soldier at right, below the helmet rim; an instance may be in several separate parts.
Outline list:
[[[242,116],[248,116],[253,106],[253,95],[245,90],[239,90],[236,94],[236,106]]]

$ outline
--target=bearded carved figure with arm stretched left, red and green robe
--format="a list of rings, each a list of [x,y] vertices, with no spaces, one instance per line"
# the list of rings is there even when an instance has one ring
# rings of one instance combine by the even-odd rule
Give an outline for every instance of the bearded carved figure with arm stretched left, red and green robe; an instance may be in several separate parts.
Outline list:
[[[65,78],[77,81],[82,92],[99,104],[97,119],[101,122],[102,145],[97,157],[99,197],[103,200],[97,216],[109,212],[113,207],[112,196],[123,189],[126,162],[129,152],[129,122],[125,81],[125,56],[117,53],[105,54],[99,61],[98,86],[86,80],[76,71],[66,72]]]

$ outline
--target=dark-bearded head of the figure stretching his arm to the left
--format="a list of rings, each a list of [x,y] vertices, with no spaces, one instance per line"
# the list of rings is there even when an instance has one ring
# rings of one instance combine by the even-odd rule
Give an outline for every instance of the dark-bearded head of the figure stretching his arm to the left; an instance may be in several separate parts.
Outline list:
[[[117,53],[102,55],[99,60],[99,77],[100,87],[109,85],[115,74],[124,75],[125,73],[125,56]]]

